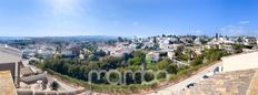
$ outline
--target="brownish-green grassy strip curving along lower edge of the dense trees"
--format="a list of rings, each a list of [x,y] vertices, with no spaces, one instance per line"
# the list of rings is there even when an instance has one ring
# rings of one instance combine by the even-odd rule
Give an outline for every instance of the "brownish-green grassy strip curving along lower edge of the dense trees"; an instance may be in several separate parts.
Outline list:
[[[201,64],[195,67],[189,67],[187,70],[180,71],[177,74],[170,75],[170,83],[176,83],[179,80],[185,80],[192,75],[192,73],[198,72],[201,67],[206,67],[207,65],[211,65],[211,63]],[[77,80],[70,77],[68,75],[62,75],[60,73],[53,72],[51,70],[46,70],[49,74],[58,76],[59,78],[73,83],[79,86],[83,86],[89,89],[89,84],[86,81]],[[131,85],[107,85],[107,84],[93,84],[92,91],[98,93],[140,93],[142,89],[155,89],[160,87],[159,83],[151,83],[151,84],[131,84]]]

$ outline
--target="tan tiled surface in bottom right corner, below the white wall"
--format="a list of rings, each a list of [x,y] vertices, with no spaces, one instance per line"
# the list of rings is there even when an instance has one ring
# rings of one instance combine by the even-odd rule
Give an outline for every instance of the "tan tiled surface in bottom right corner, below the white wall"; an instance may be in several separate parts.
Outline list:
[[[257,95],[256,87],[249,88],[250,83],[257,86],[257,70],[220,73],[185,89],[182,95]]]

